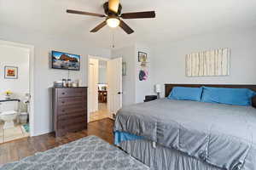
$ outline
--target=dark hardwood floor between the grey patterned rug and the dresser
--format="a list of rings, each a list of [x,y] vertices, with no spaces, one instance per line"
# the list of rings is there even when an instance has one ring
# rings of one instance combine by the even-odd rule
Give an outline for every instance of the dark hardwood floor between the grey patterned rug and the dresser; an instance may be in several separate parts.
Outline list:
[[[0,144],[0,165],[32,156],[39,151],[49,150],[89,135],[98,136],[113,144],[113,120],[106,118],[101,121],[90,122],[87,130],[79,133],[68,133],[61,138],[55,138],[54,133],[48,133]]]

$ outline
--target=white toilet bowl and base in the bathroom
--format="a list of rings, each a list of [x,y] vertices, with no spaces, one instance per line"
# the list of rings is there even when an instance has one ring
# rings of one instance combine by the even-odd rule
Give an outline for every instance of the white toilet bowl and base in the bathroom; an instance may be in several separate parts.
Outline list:
[[[15,119],[18,115],[17,111],[3,111],[0,113],[0,119],[3,120],[3,129],[15,127]]]

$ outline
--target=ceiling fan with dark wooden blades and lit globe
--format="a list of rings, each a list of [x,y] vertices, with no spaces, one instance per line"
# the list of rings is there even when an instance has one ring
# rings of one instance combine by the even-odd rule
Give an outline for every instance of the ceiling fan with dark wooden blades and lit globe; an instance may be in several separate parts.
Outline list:
[[[85,14],[90,16],[106,18],[106,20],[104,20],[101,24],[96,26],[90,32],[99,31],[100,29],[102,29],[103,26],[108,25],[112,28],[120,26],[127,34],[131,34],[134,31],[131,29],[130,26],[125,24],[124,20],[121,20],[121,19],[155,18],[154,11],[121,14],[122,5],[119,3],[119,0],[108,0],[108,2],[104,3],[103,8],[105,10],[105,14],[88,13],[84,11],[77,11],[77,10],[71,10],[71,9],[67,9],[67,13]]]

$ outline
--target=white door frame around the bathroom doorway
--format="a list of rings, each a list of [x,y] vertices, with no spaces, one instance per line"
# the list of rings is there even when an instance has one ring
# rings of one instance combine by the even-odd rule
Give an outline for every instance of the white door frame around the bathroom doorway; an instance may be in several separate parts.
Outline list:
[[[29,50],[29,93],[31,95],[30,99],[30,112],[29,112],[29,127],[30,127],[30,136],[35,136],[34,133],[34,46],[28,45],[28,44],[23,44],[23,43],[18,43],[18,42],[9,42],[9,41],[4,41],[0,40],[0,45],[8,45],[8,46],[13,46],[13,47],[18,47],[18,48],[26,48]]]

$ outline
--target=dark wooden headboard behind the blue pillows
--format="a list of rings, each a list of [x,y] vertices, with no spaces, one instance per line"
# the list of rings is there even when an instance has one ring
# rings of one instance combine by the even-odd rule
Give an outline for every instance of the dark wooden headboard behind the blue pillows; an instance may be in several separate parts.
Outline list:
[[[256,92],[256,85],[253,84],[166,84],[166,97],[172,92],[173,87],[200,88],[201,86],[213,88],[248,88]],[[256,97],[252,100],[253,107],[256,108]]]

